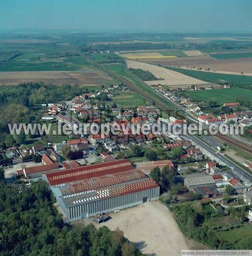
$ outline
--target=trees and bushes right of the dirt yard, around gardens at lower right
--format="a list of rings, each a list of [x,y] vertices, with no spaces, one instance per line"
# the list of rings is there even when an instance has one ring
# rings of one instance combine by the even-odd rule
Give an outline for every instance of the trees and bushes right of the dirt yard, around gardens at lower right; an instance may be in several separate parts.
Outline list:
[[[229,242],[221,239],[217,234],[216,227],[214,225],[206,225],[204,220],[214,216],[221,216],[224,214],[224,211],[219,205],[216,207],[215,214],[210,214],[206,211],[207,207],[210,207],[209,203],[200,202],[174,207],[177,219],[183,225],[185,231],[191,238],[207,244],[211,248],[219,250],[249,250],[252,248],[252,237],[241,239],[239,242],[234,244],[230,244]],[[244,215],[245,211],[245,207],[239,209],[232,208],[230,214],[240,219],[240,217]]]

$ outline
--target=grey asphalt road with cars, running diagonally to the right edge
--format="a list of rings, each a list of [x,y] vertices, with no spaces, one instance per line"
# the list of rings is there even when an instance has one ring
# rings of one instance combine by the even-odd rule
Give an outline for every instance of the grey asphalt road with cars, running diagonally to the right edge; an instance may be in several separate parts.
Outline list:
[[[241,166],[238,166],[237,164],[235,164],[234,162],[232,162],[230,159],[224,157],[221,154],[216,154],[215,150],[208,146],[207,144],[205,144],[204,142],[202,142],[199,138],[197,138],[196,136],[192,136],[192,135],[183,135],[183,137],[187,138],[188,140],[192,140],[195,141],[199,146],[201,146],[202,148],[206,149],[208,152],[210,152],[212,155],[215,155],[215,158],[222,161],[223,163],[225,163],[227,166],[231,167],[233,166],[235,168],[235,171],[238,172],[240,175],[242,175],[242,177],[245,177],[246,179],[250,180],[252,182],[252,174],[246,172],[244,169],[241,168]]]

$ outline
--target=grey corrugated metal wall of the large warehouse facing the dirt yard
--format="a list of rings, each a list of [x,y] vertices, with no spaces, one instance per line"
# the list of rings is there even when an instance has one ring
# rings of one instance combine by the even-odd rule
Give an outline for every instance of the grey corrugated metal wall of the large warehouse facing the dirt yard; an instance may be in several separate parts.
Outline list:
[[[139,191],[132,194],[126,194],[119,197],[112,197],[104,200],[98,200],[92,203],[77,205],[67,208],[65,211],[64,203],[60,200],[59,204],[67,215],[64,222],[72,222],[85,217],[91,217],[96,214],[106,213],[110,211],[120,210],[143,203],[143,197],[148,197],[148,201],[157,200],[159,198],[159,187]]]

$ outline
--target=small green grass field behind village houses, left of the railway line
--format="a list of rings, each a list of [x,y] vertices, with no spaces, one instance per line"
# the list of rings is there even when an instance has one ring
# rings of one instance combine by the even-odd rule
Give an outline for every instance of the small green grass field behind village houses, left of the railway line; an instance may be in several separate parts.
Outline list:
[[[120,91],[112,96],[112,101],[115,101],[120,107],[137,107],[147,104],[145,98],[131,90]]]

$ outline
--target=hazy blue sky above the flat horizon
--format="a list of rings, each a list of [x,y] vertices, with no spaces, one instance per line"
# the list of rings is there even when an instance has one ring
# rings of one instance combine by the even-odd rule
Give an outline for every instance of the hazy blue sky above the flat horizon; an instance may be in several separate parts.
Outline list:
[[[0,29],[252,32],[252,0],[1,0]]]

